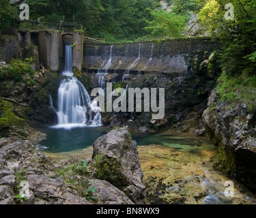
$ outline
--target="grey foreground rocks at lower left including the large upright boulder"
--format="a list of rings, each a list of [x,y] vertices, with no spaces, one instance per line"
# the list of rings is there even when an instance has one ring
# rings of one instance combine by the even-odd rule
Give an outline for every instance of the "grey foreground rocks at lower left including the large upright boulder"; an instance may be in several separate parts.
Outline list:
[[[97,144],[102,139],[108,144]],[[53,164],[28,140],[1,138],[0,204],[145,203],[136,142],[128,131],[111,131],[95,148],[94,161]]]

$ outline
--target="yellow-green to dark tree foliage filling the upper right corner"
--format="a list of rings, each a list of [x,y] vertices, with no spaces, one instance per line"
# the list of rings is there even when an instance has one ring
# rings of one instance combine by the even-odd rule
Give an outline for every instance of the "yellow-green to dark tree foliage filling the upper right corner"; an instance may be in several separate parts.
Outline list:
[[[255,0],[202,0],[199,18],[212,36],[221,38],[223,72],[233,76],[244,72],[255,74],[256,69],[256,12]],[[225,4],[232,3],[234,20],[226,20]]]

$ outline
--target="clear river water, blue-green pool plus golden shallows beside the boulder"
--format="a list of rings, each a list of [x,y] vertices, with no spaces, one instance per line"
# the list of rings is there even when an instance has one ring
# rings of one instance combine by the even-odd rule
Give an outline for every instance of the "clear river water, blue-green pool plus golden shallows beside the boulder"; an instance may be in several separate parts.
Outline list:
[[[39,130],[47,138],[38,146],[53,161],[91,157],[94,141],[110,131],[109,127]],[[213,169],[217,147],[208,138],[171,131],[131,134],[138,144],[145,190],[152,204],[256,204],[256,196],[246,187]],[[231,197],[225,196],[227,182],[233,185]]]

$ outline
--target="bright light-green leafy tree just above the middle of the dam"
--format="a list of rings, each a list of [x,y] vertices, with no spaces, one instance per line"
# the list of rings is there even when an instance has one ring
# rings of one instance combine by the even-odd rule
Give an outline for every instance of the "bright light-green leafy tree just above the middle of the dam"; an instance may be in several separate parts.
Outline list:
[[[152,11],[152,20],[147,21],[144,29],[149,31],[153,37],[182,37],[185,27],[185,16],[165,10]]]

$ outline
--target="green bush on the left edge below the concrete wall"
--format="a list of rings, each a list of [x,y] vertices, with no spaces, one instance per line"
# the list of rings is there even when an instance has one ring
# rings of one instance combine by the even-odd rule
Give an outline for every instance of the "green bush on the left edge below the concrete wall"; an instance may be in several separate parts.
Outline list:
[[[12,59],[10,64],[0,68],[0,80],[10,79],[20,81],[25,74],[33,75],[35,72],[31,69],[31,58],[23,60]]]

